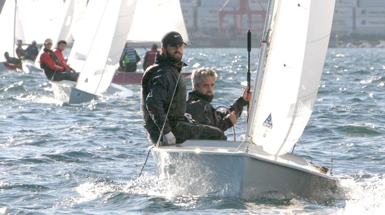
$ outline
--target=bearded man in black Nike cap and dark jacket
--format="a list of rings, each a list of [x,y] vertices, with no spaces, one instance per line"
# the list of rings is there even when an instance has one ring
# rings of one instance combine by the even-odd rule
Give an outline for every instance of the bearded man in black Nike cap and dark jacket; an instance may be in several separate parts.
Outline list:
[[[186,84],[180,75],[183,66],[182,36],[168,32],[162,38],[161,53],[142,78],[141,111],[147,138],[161,145],[182,143],[190,139],[226,140],[223,131],[193,122],[186,115]],[[162,133],[161,133],[162,132]]]

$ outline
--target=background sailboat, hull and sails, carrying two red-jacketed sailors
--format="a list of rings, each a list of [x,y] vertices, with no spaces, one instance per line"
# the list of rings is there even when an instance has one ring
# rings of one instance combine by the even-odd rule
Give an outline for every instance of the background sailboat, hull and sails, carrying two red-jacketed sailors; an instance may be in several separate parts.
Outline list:
[[[132,91],[111,83],[126,43],[136,0],[90,1],[85,12],[87,28],[76,39],[68,63],[80,70],[77,82],[52,83],[55,97],[69,103],[83,103],[98,97],[132,95]]]

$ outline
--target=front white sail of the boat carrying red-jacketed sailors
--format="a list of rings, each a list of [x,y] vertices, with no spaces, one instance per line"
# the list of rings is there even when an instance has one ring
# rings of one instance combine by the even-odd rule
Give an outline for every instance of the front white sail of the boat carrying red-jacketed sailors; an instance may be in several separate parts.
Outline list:
[[[100,1],[97,3],[101,4]],[[76,88],[98,94],[105,92],[110,86],[126,44],[135,5],[134,0],[109,0],[105,4],[97,31],[89,38],[91,46]]]

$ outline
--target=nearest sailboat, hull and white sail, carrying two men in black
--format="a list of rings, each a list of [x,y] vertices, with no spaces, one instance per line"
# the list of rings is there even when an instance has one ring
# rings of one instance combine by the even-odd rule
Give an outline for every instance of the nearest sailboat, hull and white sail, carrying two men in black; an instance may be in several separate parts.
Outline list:
[[[326,168],[288,153],[310,118],[330,37],[335,0],[270,0],[245,140],[187,140],[154,147],[156,171],[190,195],[330,193]],[[280,90],[281,89],[281,90]]]

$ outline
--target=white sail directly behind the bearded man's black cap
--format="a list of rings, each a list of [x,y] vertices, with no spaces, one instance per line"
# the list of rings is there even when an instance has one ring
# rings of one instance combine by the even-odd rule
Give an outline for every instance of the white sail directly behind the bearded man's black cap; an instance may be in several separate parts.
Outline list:
[[[159,42],[169,31],[177,31],[189,41],[179,0],[138,1],[127,40]]]

